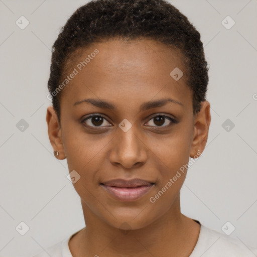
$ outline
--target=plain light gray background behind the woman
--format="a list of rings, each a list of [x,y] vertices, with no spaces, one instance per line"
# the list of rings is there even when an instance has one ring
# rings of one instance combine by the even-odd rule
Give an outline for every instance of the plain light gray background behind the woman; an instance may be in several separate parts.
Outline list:
[[[50,49],[84,3],[0,0],[1,256],[31,256],[84,226],[80,198],[66,177],[66,160],[52,154],[45,120]],[[209,138],[188,171],[182,213],[221,233],[229,221],[231,237],[257,248],[257,1],[171,3],[201,33],[210,66]],[[16,25],[21,16],[30,23],[24,30]],[[229,30],[221,24],[227,16],[235,21]],[[21,119],[29,124],[23,131]],[[235,125],[229,131],[226,119]],[[16,230],[22,221],[30,228],[25,235]]]

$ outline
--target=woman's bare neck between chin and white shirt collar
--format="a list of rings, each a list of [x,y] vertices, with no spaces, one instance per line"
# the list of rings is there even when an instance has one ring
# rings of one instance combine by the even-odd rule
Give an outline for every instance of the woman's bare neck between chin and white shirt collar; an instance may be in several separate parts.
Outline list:
[[[86,228],[79,232],[77,243],[70,242],[74,257],[189,256],[200,231],[199,224],[180,213],[179,196],[169,211],[151,224],[134,230],[121,230],[107,224],[85,203],[82,208]]]

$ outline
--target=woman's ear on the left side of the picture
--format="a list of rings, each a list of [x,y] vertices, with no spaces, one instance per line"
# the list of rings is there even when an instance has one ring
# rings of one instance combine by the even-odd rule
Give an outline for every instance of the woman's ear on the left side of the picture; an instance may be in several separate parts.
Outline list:
[[[58,151],[57,159],[65,159],[64,148],[62,144],[61,126],[58,122],[57,114],[52,105],[48,106],[46,113],[46,122],[48,126],[48,136],[54,151]]]

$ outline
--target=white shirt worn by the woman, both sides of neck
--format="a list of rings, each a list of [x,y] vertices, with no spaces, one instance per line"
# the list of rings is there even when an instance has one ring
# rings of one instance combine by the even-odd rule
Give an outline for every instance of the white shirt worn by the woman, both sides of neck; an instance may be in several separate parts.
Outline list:
[[[80,231],[80,230],[79,230]],[[76,233],[78,233],[77,231]],[[46,248],[33,257],[73,257],[68,242],[75,235]],[[200,224],[200,234],[193,252],[189,257],[254,257],[257,249],[246,246],[239,239],[221,234]],[[86,257],[86,256],[85,256]],[[168,257],[168,256],[167,256]]]

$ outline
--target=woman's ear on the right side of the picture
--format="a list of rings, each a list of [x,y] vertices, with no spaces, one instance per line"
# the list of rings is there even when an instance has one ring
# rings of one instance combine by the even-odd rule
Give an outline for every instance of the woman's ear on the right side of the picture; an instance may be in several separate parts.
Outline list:
[[[208,139],[210,122],[210,103],[203,101],[201,102],[201,110],[196,114],[194,119],[194,135],[190,151],[191,158],[199,157],[199,154],[197,155],[198,150],[200,150],[200,154],[203,152]]]

